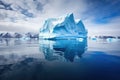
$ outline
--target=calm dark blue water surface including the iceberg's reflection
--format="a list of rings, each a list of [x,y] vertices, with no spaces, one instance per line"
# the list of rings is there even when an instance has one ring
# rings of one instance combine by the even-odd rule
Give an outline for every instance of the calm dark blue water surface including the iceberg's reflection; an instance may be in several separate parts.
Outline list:
[[[120,40],[0,39],[0,80],[120,80]]]

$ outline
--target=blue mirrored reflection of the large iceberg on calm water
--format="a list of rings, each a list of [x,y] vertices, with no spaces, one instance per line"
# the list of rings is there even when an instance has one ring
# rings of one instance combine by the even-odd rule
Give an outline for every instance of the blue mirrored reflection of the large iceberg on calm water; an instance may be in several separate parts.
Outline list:
[[[82,57],[87,50],[87,39],[78,40],[40,40],[39,50],[46,60],[63,60],[73,62],[75,57]]]

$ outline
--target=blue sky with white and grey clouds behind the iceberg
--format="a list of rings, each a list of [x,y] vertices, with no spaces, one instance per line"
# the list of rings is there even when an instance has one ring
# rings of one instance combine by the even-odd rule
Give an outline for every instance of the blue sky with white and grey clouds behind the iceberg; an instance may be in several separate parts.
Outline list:
[[[45,19],[68,13],[89,35],[120,35],[120,0],[0,0],[0,32],[39,32]]]

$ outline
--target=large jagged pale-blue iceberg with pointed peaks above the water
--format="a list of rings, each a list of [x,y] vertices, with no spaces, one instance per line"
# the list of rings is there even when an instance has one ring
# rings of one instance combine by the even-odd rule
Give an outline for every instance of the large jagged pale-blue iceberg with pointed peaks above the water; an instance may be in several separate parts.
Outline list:
[[[60,18],[47,19],[40,29],[40,39],[86,38],[87,30],[81,20],[76,21],[73,13]]]

